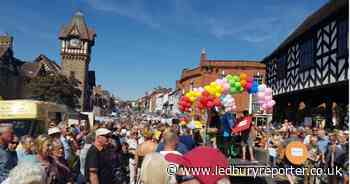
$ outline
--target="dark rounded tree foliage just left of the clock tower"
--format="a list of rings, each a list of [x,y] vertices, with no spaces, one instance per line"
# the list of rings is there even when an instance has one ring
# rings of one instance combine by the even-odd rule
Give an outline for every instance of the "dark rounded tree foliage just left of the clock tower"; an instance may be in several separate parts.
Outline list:
[[[67,105],[72,109],[80,108],[81,90],[79,81],[61,74],[37,76],[29,81],[31,98]]]

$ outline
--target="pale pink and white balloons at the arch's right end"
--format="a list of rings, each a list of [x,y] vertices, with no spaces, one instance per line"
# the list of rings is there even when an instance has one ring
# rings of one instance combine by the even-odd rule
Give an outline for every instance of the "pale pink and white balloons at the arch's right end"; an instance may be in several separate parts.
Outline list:
[[[276,104],[275,100],[272,99],[272,89],[265,84],[258,87],[258,103],[261,104],[261,109],[265,112],[271,112],[272,107]]]

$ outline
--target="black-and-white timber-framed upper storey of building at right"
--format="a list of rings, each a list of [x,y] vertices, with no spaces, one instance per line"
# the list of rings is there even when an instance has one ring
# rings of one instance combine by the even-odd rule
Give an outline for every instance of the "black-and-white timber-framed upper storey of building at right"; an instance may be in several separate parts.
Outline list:
[[[277,109],[287,101],[316,105],[322,96],[348,104],[348,12],[348,0],[330,0],[263,59]]]

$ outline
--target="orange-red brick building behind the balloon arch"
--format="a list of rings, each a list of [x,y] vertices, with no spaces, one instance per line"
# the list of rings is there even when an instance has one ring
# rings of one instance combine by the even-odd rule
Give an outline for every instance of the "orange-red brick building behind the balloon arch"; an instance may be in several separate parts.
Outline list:
[[[223,75],[246,73],[250,77],[259,78],[263,81],[265,76],[265,65],[259,61],[247,60],[211,60],[208,59],[205,50],[202,50],[199,66],[193,69],[184,69],[181,73],[180,80],[176,81],[176,89],[186,92],[191,88],[203,87]],[[249,104],[249,95],[244,92],[234,96],[237,112],[251,109],[253,112],[254,104]],[[251,102],[253,102],[251,100]],[[252,106],[250,106],[252,105]],[[257,108],[255,108],[257,109]]]

